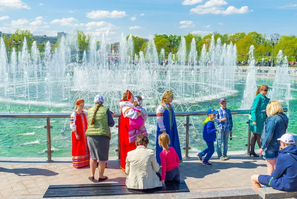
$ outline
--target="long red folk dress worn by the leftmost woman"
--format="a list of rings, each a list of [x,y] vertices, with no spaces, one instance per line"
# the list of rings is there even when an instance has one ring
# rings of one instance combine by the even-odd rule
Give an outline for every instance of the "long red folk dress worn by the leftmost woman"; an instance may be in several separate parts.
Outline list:
[[[90,165],[90,150],[86,138],[88,128],[85,114],[76,115],[76,130],[80,139],[76,139],[75,133],[72,132],[72,163],[73,167],[80,168]]]

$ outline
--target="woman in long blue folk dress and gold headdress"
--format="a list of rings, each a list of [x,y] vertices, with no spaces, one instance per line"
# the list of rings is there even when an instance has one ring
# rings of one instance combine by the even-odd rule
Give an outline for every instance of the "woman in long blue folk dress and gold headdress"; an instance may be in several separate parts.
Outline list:
[[[175,120],[174,107],[171,104],[173,100],[173,91],[170,89],[163,94],[162,103],[157,108],[157,132],[156,132],[156,158],[161,164],[160,153],[162,147],[159,146],[159,135],[168,134],[170,138],[170,147],[173,147],[178,155],[180,162],[182,162],[182,151],[179,142],[177,124]]]

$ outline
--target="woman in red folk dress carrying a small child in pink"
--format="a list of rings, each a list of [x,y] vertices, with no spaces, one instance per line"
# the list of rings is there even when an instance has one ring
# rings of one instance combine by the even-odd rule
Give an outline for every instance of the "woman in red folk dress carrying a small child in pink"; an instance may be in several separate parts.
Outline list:
[[[134,96],[130,90],[123,94],[120,101],[121,120],[120,120],[120,153],[121,153],[121,169],[125,171],[127,153],[136,149],[135,142],[129,142],[129,122],[130,119],[137,119],[141,116],[141,112],[133,109]]]

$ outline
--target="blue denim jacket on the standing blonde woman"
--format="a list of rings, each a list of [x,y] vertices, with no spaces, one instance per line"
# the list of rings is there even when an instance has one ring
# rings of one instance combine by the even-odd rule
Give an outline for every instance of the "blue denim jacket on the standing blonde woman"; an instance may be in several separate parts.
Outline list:
[[[285,124],[286,122],[286,124]],[[279,151],[280,141],[277,139],[286,133],[286,126],[288,127],[289,119],[283,114],[273,115],[269,117],[263,128],[260,141],[262,142],[261,148],[269,151]]]

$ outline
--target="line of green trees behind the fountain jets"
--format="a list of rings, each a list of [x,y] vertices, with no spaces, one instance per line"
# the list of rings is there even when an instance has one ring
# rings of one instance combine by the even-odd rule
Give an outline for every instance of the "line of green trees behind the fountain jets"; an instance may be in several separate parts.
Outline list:
[[[267,37],[265,34],[260,34],[257,32],[249,32],[249,33],[229,33],[223,34],[220,33],[213,33],[208,34],[202,37],[198,34],[191,34],[189,33],[186,36],[180,35],[166,35],[166,34],[155,34],[154,35],[154,43],[156,46],[156,50],[158,54],[162,48],[165,50],[165,56],[169,54],[170,51],[176,53],[178,51],[178,47],[180,46],[182,37],[185,38],[186,41],[186,50],[189,54],[191,48],[191,42],[193,38],[196,41],[196,48],[198,54],[201,53],[203,44],[206,44],[209,47],[210,40],[212,35],[214,35],[214,39],[217,40],[221,38],[221,43],[236,44],[237,46],[237,54],[239,61],[247,60],[248,59],[248,50],[250,45],[255,46],[254,55],[256,59],[261,59],[265,56],[271,56],[273,53],[273,46],[270,44],[270,39],[278,39],[278,44],[275,45],[274,54],[275,56],[279,52],[279,50],[283,50],[283,54],[288,56],[289,60],[291,58],[297,60],[297,37],[295,35],[279,35],[279,34],[272,34],[270,37]],[[32,40],[32,34],[28,30],[16,30],[10,38],[7,38],[6,35],[3,36],[4,42],[6,44],[7,51],[12,51],[13,42],[12,39],[18,41],[21,40],[19,50],[22,48],[24,38],[27,39],[28,50],[31,51],[31,46],[34,40]],[[128,40],[129,36],[127,36]],[[78,48],[82,51],[88,51],[90,49],[90,40],[91,36],[85,34],[83,31],[77,30],[77,39],[78,39]],[[139,54],[140,51],[145,52],[148,42],[145,39],[140,38],[138,36],[132,36],[132,40],[134,42],[134,53]],[[60,40],[57,40],[54,43],[54,48],[56,48],[59,44]],[[45,48],[45,43],[38,43],[39,49],[42,51]],[[170,47],[169,47],[170,46]],[[111,44],[112,47],[112,44]],[[100,48],[100,42],[97,41],[97,49]]]

